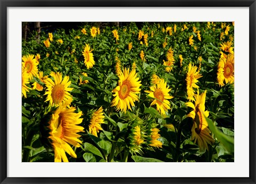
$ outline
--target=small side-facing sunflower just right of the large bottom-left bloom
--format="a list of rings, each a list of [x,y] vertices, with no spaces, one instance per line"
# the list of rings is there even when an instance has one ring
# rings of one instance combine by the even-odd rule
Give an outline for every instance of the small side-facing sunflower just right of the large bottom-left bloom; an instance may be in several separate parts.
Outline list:
[[[97,133],[99,133],[99,130],[103,130],[101,125],[105,118],[105,116],[103,116],[103,113],[102,113],[103,109],[102,107],[100,107],[98,110],[96,110],[93,115],[92,115],[92,118],[91,118],[91,121],[90,121],[90,125],[89,125],[89,132],[93,135],[95,135],[96,137],[98,137]]]

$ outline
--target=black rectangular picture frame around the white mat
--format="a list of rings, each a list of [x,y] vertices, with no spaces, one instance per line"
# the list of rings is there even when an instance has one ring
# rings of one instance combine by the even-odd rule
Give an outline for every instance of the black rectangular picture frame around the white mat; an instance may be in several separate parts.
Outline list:
[[[248,178],[10,178],[7,177],[7,7],[249,7],[250,164]],[[0,182],[1,183],[256,183],[255,182],[255,0],[0,0]],[[242,168],[241,168],[242,169]]]

